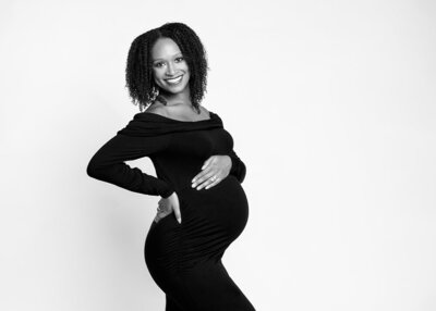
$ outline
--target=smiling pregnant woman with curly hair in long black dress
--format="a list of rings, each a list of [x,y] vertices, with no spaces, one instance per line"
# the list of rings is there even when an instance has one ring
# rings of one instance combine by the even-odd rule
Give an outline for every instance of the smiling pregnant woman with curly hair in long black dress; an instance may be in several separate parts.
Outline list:
[[[95,153],[87,174],[161,197],[144,254],[167,311],[252,311],[221,262],[246,225],[249,203],[241,186],[245,164],[232,136],[201,105],[207,70],[204,47],[185,24],[138,36],[129,51],[126,86],[141,112]],[[157,177],[124,163],[143,157]]]

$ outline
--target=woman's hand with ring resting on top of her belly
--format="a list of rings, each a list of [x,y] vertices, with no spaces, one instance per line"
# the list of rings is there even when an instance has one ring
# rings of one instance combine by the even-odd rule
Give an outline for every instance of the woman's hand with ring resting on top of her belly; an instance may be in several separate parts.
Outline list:
[[[192,179],[192,187],[201,190],[218,185],[229,175],[231,165],[229,156],[211,156],[203,164],[202,172]]]

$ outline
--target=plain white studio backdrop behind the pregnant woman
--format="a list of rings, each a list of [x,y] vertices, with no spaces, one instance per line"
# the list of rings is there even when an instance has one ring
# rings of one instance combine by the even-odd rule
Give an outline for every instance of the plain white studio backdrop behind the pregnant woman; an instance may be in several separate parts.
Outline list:
[[[247,167],[223,262],[256,309],[436,310],[435,3],[2,1],[0,309],[164,310],[159,197],[86,165],[138,112],[132,40],[183,22]]]

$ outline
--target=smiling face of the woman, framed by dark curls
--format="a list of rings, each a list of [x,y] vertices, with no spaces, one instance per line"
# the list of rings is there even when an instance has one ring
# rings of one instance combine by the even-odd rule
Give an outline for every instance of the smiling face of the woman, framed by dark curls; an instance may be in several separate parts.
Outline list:
[[[189,91],[190,70],[179,46],[170,38],[159,38],[152,49],[155,83],[171,94]]]

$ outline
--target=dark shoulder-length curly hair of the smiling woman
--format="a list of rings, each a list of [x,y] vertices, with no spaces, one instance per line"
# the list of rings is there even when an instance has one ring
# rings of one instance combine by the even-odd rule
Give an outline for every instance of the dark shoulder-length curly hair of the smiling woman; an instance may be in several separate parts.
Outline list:
[[[207,55],[198,36],[183,23],[166,23],[136,37],[129,50],[125,69],[125,87],[132,103],[140,104],[142,112],[155,101],[152,49],[159,38],[170,38],[178,46],[190,69],[190,92],[192,105],[199,112],[199,104],[207,86]],[[164,102],[164,104],[166,104]]]

